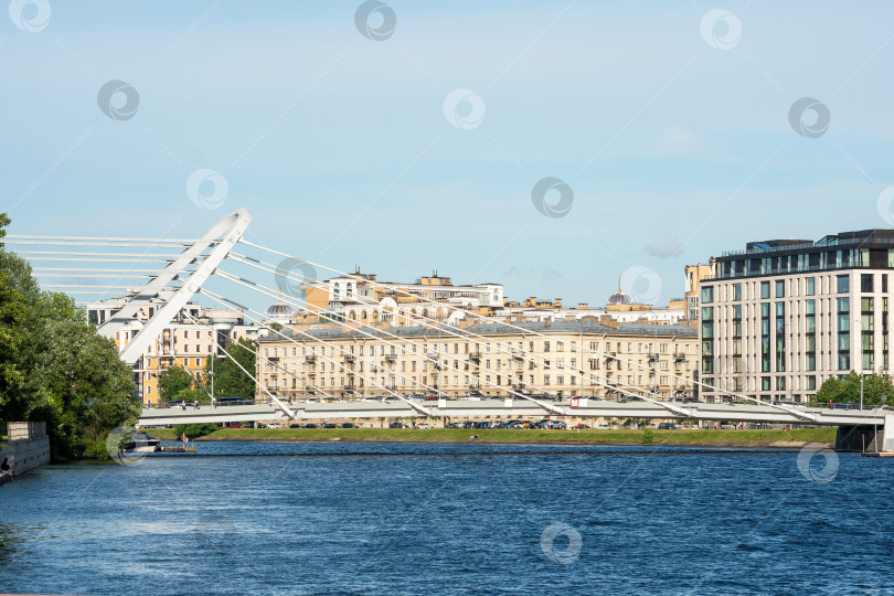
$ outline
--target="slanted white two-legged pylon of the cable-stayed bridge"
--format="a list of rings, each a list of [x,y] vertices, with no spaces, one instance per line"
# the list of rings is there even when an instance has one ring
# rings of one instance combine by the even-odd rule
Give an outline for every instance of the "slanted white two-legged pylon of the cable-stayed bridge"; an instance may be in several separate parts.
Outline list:
[[[205,232],[199,241],[190,245],[183,253],[177,256],[170,265],[164,267],[148,284],[146,284],[136,296],[131,297],[127,304],[118,310],[105,323],[99,326],[97,331],[107,338],[113,338],[121,326],[130,321],[140,308],[148,306],[152,298],[159,296],[174,278],[180,278],[185,274],[189,277],[174,291],[164,306],[159,308],[142,329],[130,340],[130,343],[121,352],[121,360],[129,365],[134,365],[146,349],[158,338],[166,326],[180,312],[190,301],[192,296],[199,291],[202,284],[214,273],[221,262],[226,258],[230,251],[242,240],[245,228],[252,221],[252,214],[245,209],[237,209]],[[205,255],[209,247],[211,253]],[[203,260],[194,270],[188,267],[198,259]]]

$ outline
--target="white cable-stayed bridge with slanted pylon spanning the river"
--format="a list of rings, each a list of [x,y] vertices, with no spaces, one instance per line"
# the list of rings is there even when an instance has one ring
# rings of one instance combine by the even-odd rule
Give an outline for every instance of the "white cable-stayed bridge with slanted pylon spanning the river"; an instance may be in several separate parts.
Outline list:
[[[279,251],[264,247],[262,245],[246,241],[243,237],[245,230],[251,222],[251,214],[245,209],[240,209],[220,222],[211,230],[202,234],[199,238],[134,238],[134,237],[86,237],[86,236],[47,236],[47,235],[13,235],[7,236],[4,242],[28,258],[32,264],[35,276],[41,280],[44,289],[62,290],[74,295],[109,295],[114,292],[124,294],[124,297],[116,302],[114,312],[105,320],[96,321],[99,333],[117,338],[120,345],[121,358],[131,365],[138,365],[140,360],[158,342],[166,326],[172,319],[179,318],[183,321],[199,323],[198,313],[190,312],[184,307],[190,300],[199,295],[210,300],[214,305],[223,308],[237,308],[246,319],[254,321],[258,326],[264,326],[266,333],[281,338],[284,341],[295,344],[306,345],[307,342],[320,342],[319,338],[297,328],[283,329],[279,326],[265,324],[265,312],[252,309],[233,300],[224,290],[214,291],[209,288],[210,281],[225,281],[233,288],[238,288],[242,292],[254,292],[266,298],[275,298],[281,304],[290,305],[301,309],[304,312],[319,316],[328,323],[350,329],[353,333],[366,334],[376,338],[379,341],[392,347],[398,341],[407,343],[405,338],[400,338],[387,330],[373,332],[369,328],[358,326],[356,322],[332,317],[330,312],[296,296],[298,292],[288,292],[286,297],[281,295],[281,284],[290,285],[313,285],[318,280],[312,275],[308,275],[305,267],[311,270],[327,270],[337,276],[349,276],[350,274],[313,263],[297,256]],[[34,249],[53,247],[51,251]],[[21,248],[20,248],[21,247]],[[86,248],[86,249],[85,249]],[[137,249],[137,252],[130,252]],[[247,254],[254,252],[254,255]],[[270,255],[280,260],[278,265],[265,260]],[[47,263],[49,266],[44,266]],[[95,264],[91,267],[79,265]],[[123,265],[124,264],[124,265]],[[152,264],[153,267],[142,267],[145,264]],[[234,273],[231,266],[238,265],[242,269],[249,269],[256,275],[249,276],[242,272]],[[272,275],[279,281],[280,288],[272,287],[259,281],[262,278],[269,278]],[[131,285],[116,285],[124,279],[140,279],[138,287]],[[99,279],[111,279],[106,284]],[[64,280],[65,283],[61,283]],[[83,280],[83,281],[82,281]],[[374,283],[373,283],[374,285]],[[405,298],[424,301],[432,307],[432,311],[450,312],[457,310],[454,304],[443,302],[435,299],[421,297],[402,290],[392,292],[403,294]],[[354,299],[362,301],[361,297]],[[372,308],[380,308],[381,305],[369,302]],[[383,311],[384,312],[384,311]],[[142,313],[146,320],[139,324],[134,324],[137,315]],[[464,330],[461,333],[449,324],[444,324],[444,319],[428,316],[428,309],[422,312],[402,313],[408,323],[432,330],[445,337],[468,338],[470,332]],[[468,312],[467,316],[480,318],[485,322],[487,317]],[[384,319],[384,316],[383,316]],[[550,340],[551,336],[544,331],[531,331],[523,329],[512,322],[501,323],[510,328],[515,327],[526,336],[534,336]],[[128,326],[134,329],[123,340],[120,331]],[[473,336],[475,333],[472,333]],[[479,336],[480,339],[487,339]],[[221,338],[210,333],[209,338],[221,355],[228,356]],[[224,340],[225,341],[225,340]],[[166,350],[166,342],[158,342],[160,349]],[[411,342],[412,343],[412,342]],[[493,342],[491,342],[493,343]],[[415,345],[415,344],[414,344]],[[579,347],[582,351],[604,359],[613,359],[622,362],[629,369],[651,370],[642,363],[625,359],[608,350],[587,349]],[[343,349],[339,349],[343,352]],[[576,417],[620,417],[620,418],[667,418],[667,419],[691,419],[691,421],[728,421],[728,422],[758,422],[758,423],[784,423],[784,424],[807,424],[819,426],[839,426],[841,428],[865,428],[872,427],[873,433],[877,427],[890,430],[887,436],[891,440],[885,440],[885,445],[894,449],[894,416],[886,416],[885,411],[837,411],[824,408],[807,408],[792,404],[776,404],[762,402],[755,397],[720,390],[730,398],[743,402],[741,405],[725,404],[700,404],[681,403],[679,400],[668,401],[666,396],[657,391],[646,390],[641,386],[624,383],[620,375],[611,377],[609,374],[568,369],[565,374],[581,379],[590,385],[597,385],[608,393],[618,396],[626,396],[638,400],[637,402],[609,402],[604,400],[587,400],[585,397],[572,401],[555,401],[544,398],[549,394],[549,387],[539,386],[533,383],[524,387],[519,385],[503,386],[499,382],[494,383],[489,375],[476,373],[472,376],[478,385],[500,390],[507,394],[505,400],[447,400],[439,398],[434,402],[409,397],[403,394],[392,384],[376,381],[375,375],[368,379],[370,387],[379,391],[385,400],[377,402],[343,402],[343,403],[317,403],[317,404],[289,404],[275,391],[258,382],[258,374],[262,365],[273,366],[283,375],[295,375],[275,360],[262,354],[259,349],[255,349],[258,366],[255,371],[245,370],[237,361],[236,364],[245,374],[252,377],[257,387],[257,398],[260,402],[255,406],[227,406],[213,411],[177,411],[146,409],[140,418],[143,425],[151,424],[174,424],[171,421],[191,422],[220,422],[234,419],[240,421],[267,421],[274,418],[286,419],[322,419],[322,418],[349,418],[349,417],[458,417],[458,416],[576,416]],[[508,342],[494,344],[497,353],[504,354],[511,359],[519,360],[525,364],[549,365],[542,355],[525,351]],[[164,354],[162,354],[164,355]],[[316,358],[316,356],[315,356]],[[321,350],[319,355],[322,362],[330,364],[330,369],[339,366],[344,370],[349,363],[356,361],[365,362],[370,366],[375,366],[375,361],[370,356],[358,354],[333,353],[330,347],[330,355]],[[449,359],[436,359],[435,366],[438,371],[460,372],[460,369],[450,364]],[[465,371],[464,371],[465,372]],[[395,372],[397,376],[401,373]],[[685,377],[672,371],[666,374],[699,386],[706,386],[696,380]],[[198,380],[196,380],[198,381]],[[439,395],[439,387],[436,384],[422,383],[423,389],[433,395]],[[311,386],[312,391],[319,395],[332,397],[323,386]],[[265,403],[266,402],[266,403]],[[236,411],[231,408],[249,408]],[[888,445],[890,444],[890,445]]]

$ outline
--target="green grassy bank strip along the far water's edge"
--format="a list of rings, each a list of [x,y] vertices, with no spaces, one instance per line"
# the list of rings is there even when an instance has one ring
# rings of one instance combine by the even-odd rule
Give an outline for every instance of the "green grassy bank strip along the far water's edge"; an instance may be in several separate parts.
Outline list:
[[[159,438],[177,439],[172,428],[149,428]],[[643,430],[523,430],[508,428],[223,428],[196,440],[356,440],[406,443],[467,443],[478,435],[482,443],[563,443],[640,445]],[[651,445],[720,447],[797,447],[833,444],[834,428],[795,430],[652,430]]]

